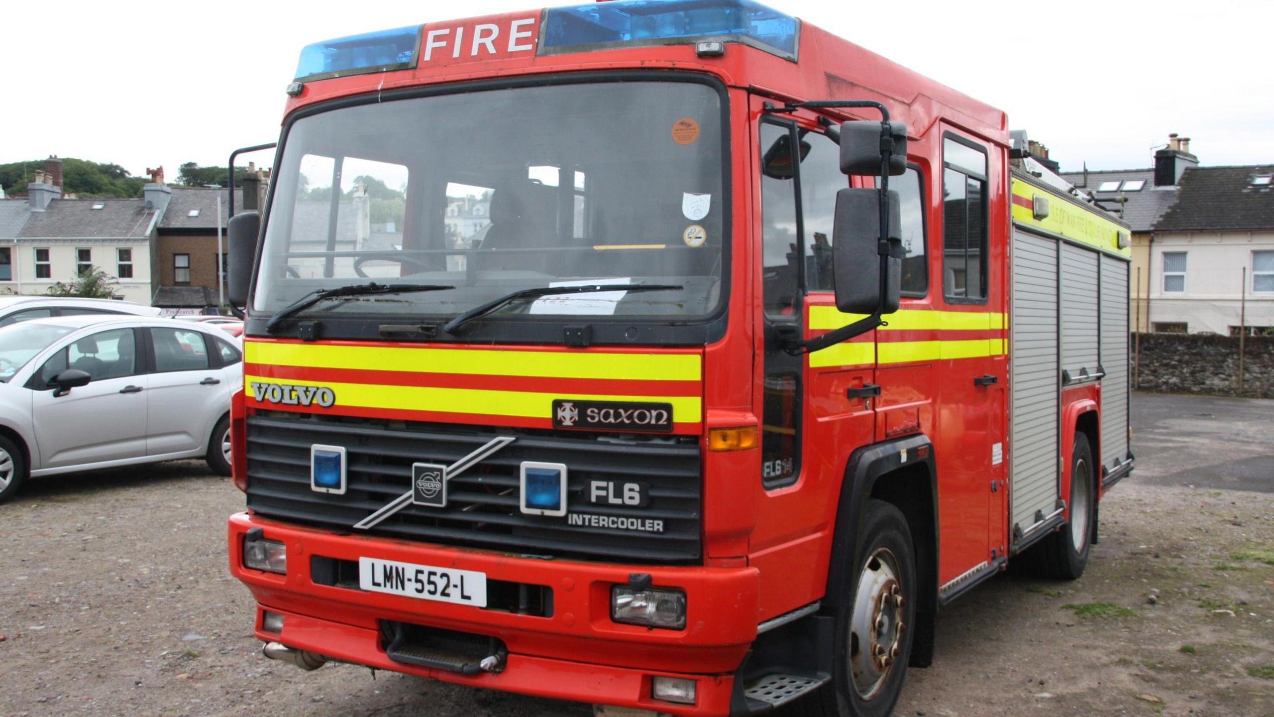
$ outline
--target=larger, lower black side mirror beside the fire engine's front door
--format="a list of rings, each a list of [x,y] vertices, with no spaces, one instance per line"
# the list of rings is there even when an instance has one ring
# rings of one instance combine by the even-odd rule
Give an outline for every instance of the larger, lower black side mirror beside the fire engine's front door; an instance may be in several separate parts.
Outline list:
[[[843,144],[841,147],[845,147]],[[879,154],[877,156],[879,157]],[[880,286],[880,190],[842,189],[836,193],[832,226],[832,276],[836,307],[846,314],[882,314],[898,310],[902,286],[902,212],[898,193],[889,193],[889,256],[885,286]]]

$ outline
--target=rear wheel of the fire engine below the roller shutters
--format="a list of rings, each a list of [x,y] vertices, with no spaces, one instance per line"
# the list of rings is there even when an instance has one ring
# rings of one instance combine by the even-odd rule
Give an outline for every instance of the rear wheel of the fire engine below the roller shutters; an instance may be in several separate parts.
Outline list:
[[[1022,556],[1032,574],[1054,580],[1074,580],[1084,574],[1097,518],[1096,489],[1093,449],[1088,436],[1077,432],[1070,452],[1070,499],[1066,501],[1070,521]]]

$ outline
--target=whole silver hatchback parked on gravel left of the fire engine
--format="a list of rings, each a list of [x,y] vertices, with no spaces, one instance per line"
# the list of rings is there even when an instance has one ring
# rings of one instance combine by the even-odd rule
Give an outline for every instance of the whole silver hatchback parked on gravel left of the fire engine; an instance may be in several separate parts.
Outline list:
[[[214,327],[140,316],[0,328],[0,503],[28,476],[199,457],[229,475],[240,346]]]

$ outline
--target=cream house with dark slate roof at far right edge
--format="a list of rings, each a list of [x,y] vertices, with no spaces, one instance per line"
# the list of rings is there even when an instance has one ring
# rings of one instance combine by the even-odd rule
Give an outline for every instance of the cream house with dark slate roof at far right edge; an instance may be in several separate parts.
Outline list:
[[[1189,168],[1147,283],[1153,330],[1274,333],[1274,165]]]

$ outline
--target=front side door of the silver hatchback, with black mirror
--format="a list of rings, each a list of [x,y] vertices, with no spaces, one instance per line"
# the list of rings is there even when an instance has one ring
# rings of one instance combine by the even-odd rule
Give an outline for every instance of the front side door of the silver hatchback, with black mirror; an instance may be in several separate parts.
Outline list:
[[[111,329],[82,337],[45,361],[27,384],[41,461],[34,469],[65,468],[147,454],[147,387],[136,332]],[[88,385],[54,395],[50,379],[87,371]]]

